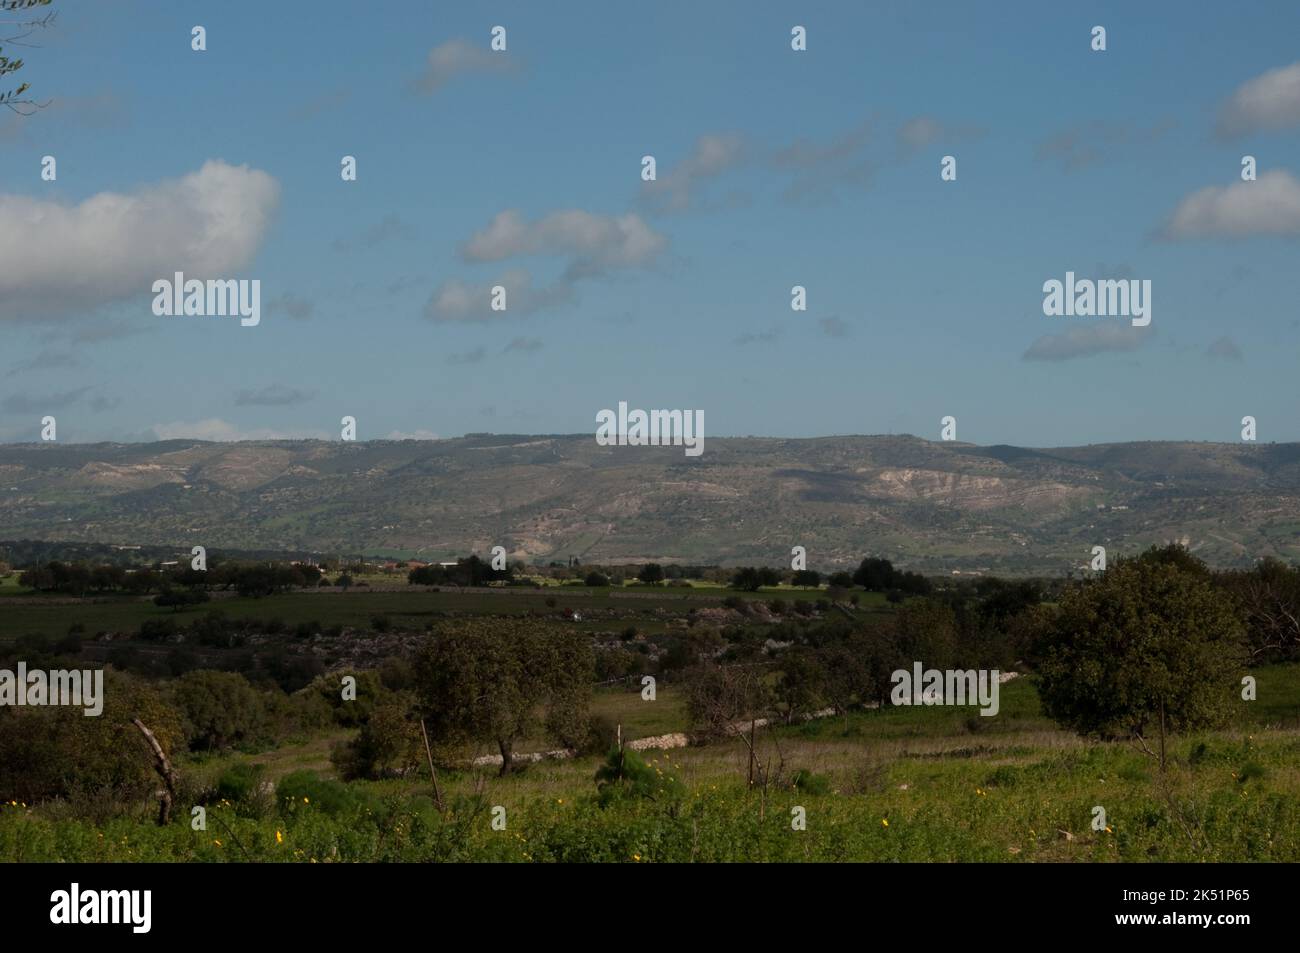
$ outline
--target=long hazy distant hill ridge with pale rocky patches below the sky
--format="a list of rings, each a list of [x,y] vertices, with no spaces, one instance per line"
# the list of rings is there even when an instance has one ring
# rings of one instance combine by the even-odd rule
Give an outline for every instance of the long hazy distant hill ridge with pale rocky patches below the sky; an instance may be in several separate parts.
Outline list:
[[[590,434],[0,445],[0,538],[530,560],[1056,575],[1178,540],[1218,566],[1300,559],[1300,445],[1031,450],[916,437]]]

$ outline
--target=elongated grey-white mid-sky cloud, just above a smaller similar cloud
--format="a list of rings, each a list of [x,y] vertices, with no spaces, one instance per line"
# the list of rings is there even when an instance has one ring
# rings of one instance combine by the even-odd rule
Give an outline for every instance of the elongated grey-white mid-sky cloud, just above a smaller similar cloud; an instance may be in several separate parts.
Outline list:
[[[569,256],[569,280],[611,268],[650,263],[667,239],[634,213],[602,216],[582,209],[551,212],[529,222],[516,209],[497,213],[488,228],[465,242],[467,261],[500,261],[526,255]]]

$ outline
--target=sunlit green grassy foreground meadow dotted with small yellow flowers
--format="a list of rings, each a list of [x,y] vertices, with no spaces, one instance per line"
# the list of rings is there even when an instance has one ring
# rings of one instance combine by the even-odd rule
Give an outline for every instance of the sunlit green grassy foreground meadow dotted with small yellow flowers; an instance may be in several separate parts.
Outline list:
[[[23,806],[0,810],[5,861],[1278,861],[1300,859],[1300,670],[1257,672],[1260,699],[1225,732],[1178,738],[1165,779],[1126,744],[1092,745],[1037,711],[1030,680],[1004,686],[1002,715],[971,727],[970,711],[857,712],[759,735],[759,757],[824,775],[811,793],[785,780],[744,783],[738,741],[646,753],[679,777],[680,796],[602,809],[598,759],[551,761],[498,779],[441,772],[446,816],[428,775],[321,789],[261,811],[212,805],[208,829],[143,819],[96,827]],[[646,729],[671,727],[671,694],[599,696]],[[666,714],[659,714],[664,711]],[[261,755],[230,755],[190,770],[216,776],[234,761],[270,780],[303,768],[329,774],[322,736]],[[476,794],[482,785],[481,794]],[[312,789],[313,792],[316,789]],[[3,793],[3,792],[0,792]],[[335,792],[337,794],[337,792]],[[348,800],[350,798],[350,800]],[[506,829],[493,829],[503,807]],[[792,810],[806,829],[792,829]],[[1093,809],[1109,829],[1093,831]]]

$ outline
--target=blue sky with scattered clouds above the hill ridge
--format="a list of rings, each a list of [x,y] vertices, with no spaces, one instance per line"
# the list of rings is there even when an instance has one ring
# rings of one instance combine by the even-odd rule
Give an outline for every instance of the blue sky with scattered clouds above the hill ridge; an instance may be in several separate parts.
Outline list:
[[[594,433],[619,400],[1300,439],[1294,3],[51,9],[16,74],[51,104],[0,116],[0,439]],[[155,316],[173,261],[260,280],[261,324]],[[1149,329],[1044,316],[1067,270],[1150,280]]]

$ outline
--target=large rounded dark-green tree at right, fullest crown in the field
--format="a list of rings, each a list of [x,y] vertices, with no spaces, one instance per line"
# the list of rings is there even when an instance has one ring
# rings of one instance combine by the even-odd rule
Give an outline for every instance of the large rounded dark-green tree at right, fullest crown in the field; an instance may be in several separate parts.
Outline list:
[[[1243,625],[1204,564],[1167,550],[1121,559],[1065,593],[1039,645],[1044,711],[1117,738],[1222,724],[1240,686]]]

